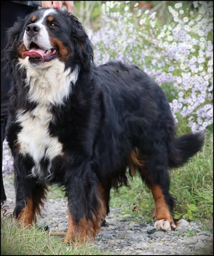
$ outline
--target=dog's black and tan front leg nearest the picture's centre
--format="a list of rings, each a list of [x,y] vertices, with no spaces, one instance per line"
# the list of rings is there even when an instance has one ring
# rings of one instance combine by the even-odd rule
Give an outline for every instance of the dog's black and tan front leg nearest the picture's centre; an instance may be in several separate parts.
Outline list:
[[[68,186],[69,183],[69,186]],[[104,190],[92,171],[67,183],[68,231],[65,243],[93,241],[106,215]]]

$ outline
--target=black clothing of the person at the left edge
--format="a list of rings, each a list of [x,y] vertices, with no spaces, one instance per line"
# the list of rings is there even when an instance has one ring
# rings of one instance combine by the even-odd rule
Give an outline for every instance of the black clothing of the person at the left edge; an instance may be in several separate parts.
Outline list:
[[[30,6],[29,6],[30,5]],[[4,57],[2,50],[6,42],[6,30],[13,26],[18,17],[24,18],[26,14],[38,9],[41,6],[40,1],[2,1],[1,2],[1,59]],[[1,62],[1,164],[2,164],[2,147],[5,138],[5,125],[8,111],[8,92],[11,87],[11,79],[6,77],[3,70],[4,61]],[[6,200],[4,191],[2,168],[1,168],[1,202]]]

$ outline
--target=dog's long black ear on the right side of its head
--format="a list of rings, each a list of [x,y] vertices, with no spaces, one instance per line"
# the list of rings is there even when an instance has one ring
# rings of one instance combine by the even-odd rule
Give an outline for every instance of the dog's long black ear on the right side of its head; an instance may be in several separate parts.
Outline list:
[[[78,61],[81,62],[82,68],[90,70],[94,63],[93,45],[78,19],[74,15],[70,15],[70,19],[72,23],[70,38],[73,42]]]

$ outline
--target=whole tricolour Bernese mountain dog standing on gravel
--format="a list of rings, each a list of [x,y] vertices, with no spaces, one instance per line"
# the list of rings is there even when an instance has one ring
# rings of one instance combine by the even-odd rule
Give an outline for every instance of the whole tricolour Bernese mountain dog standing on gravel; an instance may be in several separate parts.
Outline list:
[[[204,133],[176,137],[161,87],[139,67],[96,66],[84,27],[66,10],[19,19],[7,41],[14,218],[36,222],[55,183],[68,197],[64,242],[92,241],[109,213],[111,188],[138,172],[154,198],[154,227],[174,230],[168,170],[201,149]]]

